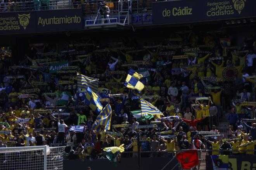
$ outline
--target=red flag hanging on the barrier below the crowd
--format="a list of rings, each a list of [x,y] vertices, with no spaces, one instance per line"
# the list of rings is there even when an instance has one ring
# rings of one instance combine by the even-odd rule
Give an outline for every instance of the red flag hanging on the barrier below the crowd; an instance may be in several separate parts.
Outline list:
[[[176,155],[177,160],[183,169],[190,169],[199,164],[198,153],[196,149],[191,149]]]

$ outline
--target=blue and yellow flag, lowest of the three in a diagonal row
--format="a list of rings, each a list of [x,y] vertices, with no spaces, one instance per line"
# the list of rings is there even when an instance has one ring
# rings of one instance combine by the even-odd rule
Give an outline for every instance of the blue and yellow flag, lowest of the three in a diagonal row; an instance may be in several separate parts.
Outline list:
[[[106,131],[109,131],[111,125],[111,114],[112,110],[110,103],[107,103],[93,123],[92,129],[99,133],[101,126],[104,125]]]

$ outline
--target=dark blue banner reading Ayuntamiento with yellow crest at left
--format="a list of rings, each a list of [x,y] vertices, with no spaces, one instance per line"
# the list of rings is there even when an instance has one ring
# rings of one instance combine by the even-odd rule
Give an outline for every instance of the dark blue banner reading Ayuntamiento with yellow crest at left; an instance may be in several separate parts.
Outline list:
[[[83,29],[82,12],[79,8],[3,12],[0,19],[0,34]]]

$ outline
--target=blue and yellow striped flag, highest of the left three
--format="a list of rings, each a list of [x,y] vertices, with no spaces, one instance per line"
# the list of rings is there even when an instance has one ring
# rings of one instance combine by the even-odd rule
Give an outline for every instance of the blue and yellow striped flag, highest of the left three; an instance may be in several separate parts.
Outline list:
[[[99,79],[87,77],[87,76],[84,76],[83,74],[77,73],[76,80],[77,80],[77,89],[81,89],[79,92],[85,92],[87,87],[89,86],[94,93],[97,93],[98,86],[99,86]]]

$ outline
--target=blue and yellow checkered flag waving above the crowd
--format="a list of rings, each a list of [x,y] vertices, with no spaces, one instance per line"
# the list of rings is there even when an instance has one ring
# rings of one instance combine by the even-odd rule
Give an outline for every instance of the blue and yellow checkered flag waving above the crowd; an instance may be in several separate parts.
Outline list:
[[[137,89],[139,92],[143,90],[144,84],[139,80],[142,79],[142,75],[135,72],[133,69],[129,70],[129,73],[125,80],[125,86],[130,89]]]

